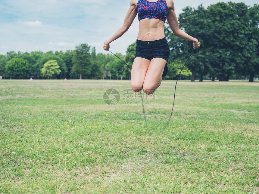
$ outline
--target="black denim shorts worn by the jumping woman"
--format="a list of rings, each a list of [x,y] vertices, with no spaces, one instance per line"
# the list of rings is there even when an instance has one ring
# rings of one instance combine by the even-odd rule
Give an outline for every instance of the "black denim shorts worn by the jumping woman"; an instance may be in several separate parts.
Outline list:
[[[142,41],[137,39],[135,58],[141,57],[150,61],[153,58],[162,58],[168,61],[169,55],[170,49],[167,39],[165,37],[160,40],[154,41]],[[167,74],[167,71],[168,68],[166,64],[163,72],[163,77]]]

